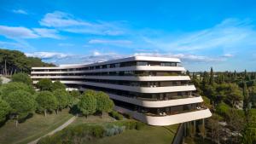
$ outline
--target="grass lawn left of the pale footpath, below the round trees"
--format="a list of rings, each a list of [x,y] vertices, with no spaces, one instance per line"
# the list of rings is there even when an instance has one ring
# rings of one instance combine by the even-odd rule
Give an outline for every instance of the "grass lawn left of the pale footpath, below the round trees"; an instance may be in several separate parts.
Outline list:
[[[44,115],[34,114],[32,118],[21,123],[15,127],[15,121],[9,120],[0,128],[0,143],[27,143],[36,140],[38,137],[55,130],[61,124],[64,124],[73,115],[68,113],[68,110],[48,114],[46,118]]]

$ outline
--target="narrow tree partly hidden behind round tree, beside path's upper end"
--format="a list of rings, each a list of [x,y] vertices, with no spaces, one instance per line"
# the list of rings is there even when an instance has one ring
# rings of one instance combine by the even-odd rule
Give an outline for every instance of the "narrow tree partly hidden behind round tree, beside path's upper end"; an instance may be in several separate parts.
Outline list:
[[[56,89],[54,92],[53,92],[53,95],[55,95],[55,98],[57,100],[57,113],[58,113],[58,110],[61,110],[65,107],[68,106],[69,104],[69,93],[65,90],[65,89]]]

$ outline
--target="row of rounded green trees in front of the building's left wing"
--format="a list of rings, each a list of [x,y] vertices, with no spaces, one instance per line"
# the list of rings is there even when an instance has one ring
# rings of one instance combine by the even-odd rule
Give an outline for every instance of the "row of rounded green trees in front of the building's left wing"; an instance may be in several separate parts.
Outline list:
[[[26,73],[16,73],[9,84],[0,86],[0,124],[15,119],[17,126],[34,112],[47,117],[48,113],[58,114],[65,108],[69,108],[73,114],[86,117],[113,110],[113,101],[103,92],[68,92],[60,81],[52,83],[50,79],[39,80],[36,87],[38,90],[33,88],[32,79]]]

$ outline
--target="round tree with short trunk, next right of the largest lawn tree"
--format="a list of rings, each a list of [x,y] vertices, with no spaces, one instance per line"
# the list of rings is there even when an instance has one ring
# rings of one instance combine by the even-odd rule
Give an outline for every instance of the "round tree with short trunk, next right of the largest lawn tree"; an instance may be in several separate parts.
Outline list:
[[[38,111],[44,112],[45,117],[47,111],[54,111],[57,109],[57,99],[55,98],[55,95],[52,95],[49,91],[39,92],[36,101],[38,102]]]

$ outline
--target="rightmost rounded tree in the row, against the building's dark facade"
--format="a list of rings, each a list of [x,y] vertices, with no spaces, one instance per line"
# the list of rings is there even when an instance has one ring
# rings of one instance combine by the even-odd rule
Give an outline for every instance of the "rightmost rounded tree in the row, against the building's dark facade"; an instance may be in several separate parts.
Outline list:
[[[96,94],[96,111],[98,112],[111,112],[113,109],[113,101],[109,99],[109,96],[103,92],[97,92]]]

